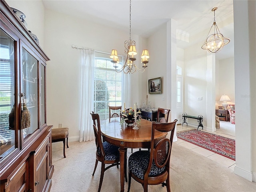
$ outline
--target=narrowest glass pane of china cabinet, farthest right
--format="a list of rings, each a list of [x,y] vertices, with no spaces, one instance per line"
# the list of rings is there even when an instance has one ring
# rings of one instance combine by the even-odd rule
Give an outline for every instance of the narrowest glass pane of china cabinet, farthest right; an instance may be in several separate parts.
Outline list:
[[[46,124],[45,121],[45,66],[41,64],[41,126]]]

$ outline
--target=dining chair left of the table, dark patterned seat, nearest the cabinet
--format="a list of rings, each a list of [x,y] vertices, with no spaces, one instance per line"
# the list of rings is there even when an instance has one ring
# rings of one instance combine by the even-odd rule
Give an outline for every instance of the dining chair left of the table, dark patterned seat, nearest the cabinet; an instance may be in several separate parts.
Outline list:
[[[112,166],[117,166],[118,168],[118,165],[120,164],[120,158],[119,158],[120,153],[118,150],[119,149],[118,146],[114,146],[106,141],[102,142],[101,131],[100,131],[100,116],[99,114],[95,114],[93,111],[91,111],[90,114],[93,120],[93,130],[94,130],[95,143],[96,143],[96,162],[95,162],[92,176],[94,176],[98,162],[100,161],[101,171],[100,171],[100,184],[98,188],[98,192],[100,192],[103,177],[104,177],[104,172]],[[106,164],[110,164],[110,165],[105,168]],[[125,176],[126,176],[126,172],[125,172]]]

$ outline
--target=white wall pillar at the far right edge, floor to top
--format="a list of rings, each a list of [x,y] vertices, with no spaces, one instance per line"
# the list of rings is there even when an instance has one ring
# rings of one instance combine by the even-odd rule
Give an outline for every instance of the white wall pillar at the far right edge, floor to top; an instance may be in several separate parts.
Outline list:
[[[236,95],[234,172],[256,182],[256,1],[234,1],[233,3]]]

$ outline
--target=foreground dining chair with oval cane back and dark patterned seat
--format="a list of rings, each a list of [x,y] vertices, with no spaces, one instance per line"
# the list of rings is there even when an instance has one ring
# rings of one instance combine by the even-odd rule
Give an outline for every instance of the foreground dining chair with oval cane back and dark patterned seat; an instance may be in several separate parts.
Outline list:
[[[148,191],[148,185],[158,184],[166,186],[167,192],[171,191],[170,154],[177,121],[178,120],[175,119],[173,122],[169,123],[152,122],[150,151],[136,151],[129,157],[128,192],[130,191],[131,178],[142,184],[144,192]],[[170,138],[163,138],[154,145],[155,130],[161,132],[170,131]]]

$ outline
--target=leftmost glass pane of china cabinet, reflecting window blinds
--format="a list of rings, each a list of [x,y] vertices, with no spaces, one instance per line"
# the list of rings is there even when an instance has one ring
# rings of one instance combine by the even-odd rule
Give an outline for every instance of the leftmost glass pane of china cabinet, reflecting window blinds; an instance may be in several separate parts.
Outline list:
[[[0,29],[0,159],[15,148],[14,40]]]

